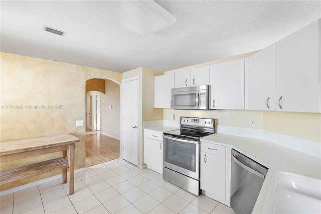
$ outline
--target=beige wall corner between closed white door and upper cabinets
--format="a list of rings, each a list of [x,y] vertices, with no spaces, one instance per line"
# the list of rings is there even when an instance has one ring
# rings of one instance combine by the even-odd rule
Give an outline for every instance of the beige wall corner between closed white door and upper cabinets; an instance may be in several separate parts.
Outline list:
[[[154,109],[154,76],[163,74],[148,68],[136,68],[122,75],[123,80],[135,76],[139,76],[139,125],[138,125],[138,164],[144,165],[144,138],[143,138],[143,122],[163,119],[163,110]]]

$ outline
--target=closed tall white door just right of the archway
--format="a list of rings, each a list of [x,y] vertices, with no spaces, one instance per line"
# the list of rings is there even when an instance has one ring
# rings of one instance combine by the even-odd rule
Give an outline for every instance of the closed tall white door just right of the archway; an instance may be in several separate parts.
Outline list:
[[[138,77],[122,82],[123,106],[123,158],[130,163],[138,163]]]

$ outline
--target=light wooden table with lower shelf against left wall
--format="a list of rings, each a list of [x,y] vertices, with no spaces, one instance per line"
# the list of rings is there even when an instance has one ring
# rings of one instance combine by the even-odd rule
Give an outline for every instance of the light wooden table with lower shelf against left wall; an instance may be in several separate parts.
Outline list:
[[[0,162],[18,160],[62,151],[62,157],[0,171],[0,184],[10,183],[46,172],[63,169],[62,182],[67,183],[69,168],[69,195],[74,193],[75,143],[80,142],[71,134],[25,138],[0,142]],[[69,150],[69,158],[67,151]]]

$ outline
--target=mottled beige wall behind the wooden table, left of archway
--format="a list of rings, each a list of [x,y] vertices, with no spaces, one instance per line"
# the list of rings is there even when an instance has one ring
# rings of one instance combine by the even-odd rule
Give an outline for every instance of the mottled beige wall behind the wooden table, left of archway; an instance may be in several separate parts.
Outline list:
[[[121,83],[122,74],[107,70],[0,52],[0,106],[22,105],[24,109],[0,109],[1,141],[71,133],[76,144],[75,168],[85,167],[85,81],[105,78]],[[64,105],[64,109],[31,109],[35,105]],[[1,169],[57,157],[54,153],[2,163]],[[6,190],[51,177],[60,171],[1,185]]]

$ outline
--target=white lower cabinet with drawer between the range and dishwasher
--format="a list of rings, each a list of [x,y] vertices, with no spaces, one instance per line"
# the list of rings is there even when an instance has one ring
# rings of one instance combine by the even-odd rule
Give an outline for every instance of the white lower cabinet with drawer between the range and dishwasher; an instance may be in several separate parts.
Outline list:
[[[230,206],[231,148],[201,141],[200,162],[203,194]]]

